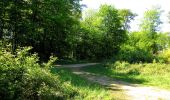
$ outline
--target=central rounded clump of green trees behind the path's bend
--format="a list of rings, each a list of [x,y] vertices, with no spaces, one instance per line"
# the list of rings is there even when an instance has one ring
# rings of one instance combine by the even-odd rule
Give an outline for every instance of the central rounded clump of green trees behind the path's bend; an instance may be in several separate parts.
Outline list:
[[[127,38],[118,10],[102,5],[98,11],[90,10],[86,15],[81,23],[78,58],[106,59],[116,55]]]

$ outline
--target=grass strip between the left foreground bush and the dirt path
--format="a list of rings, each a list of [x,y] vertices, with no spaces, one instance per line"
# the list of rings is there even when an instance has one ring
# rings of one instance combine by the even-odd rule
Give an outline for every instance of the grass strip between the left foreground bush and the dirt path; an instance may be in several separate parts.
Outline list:
[[[52,68],[52,73],[59,75],[61,81],[69,82],[71,87],[76,89],[78,94],[73,98],[74,100],[114,100],[109,90],[71,73],[69,69]]]

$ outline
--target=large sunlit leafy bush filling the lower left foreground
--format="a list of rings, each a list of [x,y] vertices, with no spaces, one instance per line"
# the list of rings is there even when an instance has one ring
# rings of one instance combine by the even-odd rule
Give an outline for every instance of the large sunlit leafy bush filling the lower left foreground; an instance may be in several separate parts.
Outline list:
[[[31,48],[19,49],[12,55],[7,49],[0,50],[0,99],[66,99],[76,92],[69,85],[63,84],[49,67],[55,58],[38,64],[36,54],[29,54]]]

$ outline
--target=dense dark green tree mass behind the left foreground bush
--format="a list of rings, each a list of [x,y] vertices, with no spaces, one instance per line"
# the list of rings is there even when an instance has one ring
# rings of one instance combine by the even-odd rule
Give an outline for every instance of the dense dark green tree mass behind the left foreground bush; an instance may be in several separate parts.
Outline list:
[[[0,1],[0,39],[32,46],[43,59],[69,56],[81,17],[80,0]],[[44,56],[45,55],[45,56]]]

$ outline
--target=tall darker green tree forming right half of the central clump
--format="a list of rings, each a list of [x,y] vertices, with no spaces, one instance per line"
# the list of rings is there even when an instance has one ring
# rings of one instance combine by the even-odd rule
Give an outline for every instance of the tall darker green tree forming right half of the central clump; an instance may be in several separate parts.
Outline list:
[[[125,42],[126,32],[122,29],[121,18],[118,10],[113,6],[102,5],[99,10],[102,17],[101,29],[103,29],[103,54],[112,57],[117,54],[122,43]]]

